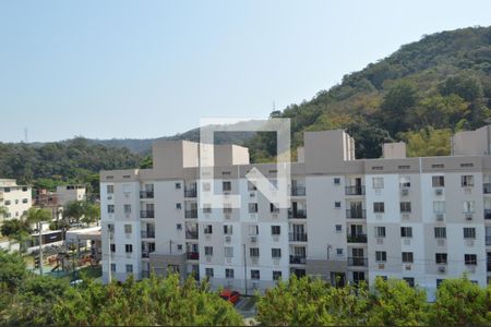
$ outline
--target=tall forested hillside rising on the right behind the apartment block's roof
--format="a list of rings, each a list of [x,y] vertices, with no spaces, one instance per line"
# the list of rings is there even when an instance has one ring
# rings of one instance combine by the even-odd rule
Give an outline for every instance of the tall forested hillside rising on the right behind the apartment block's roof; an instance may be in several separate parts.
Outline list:
[[[376,158],[390,140],[408,142],[412,156],[446,155],[451,134],[487,124],[490,108],[491,27],[476,27],[423,36],[271,116],[291,118],[294,147],[303,131],[346,129],[358,158]],[[271,135],[248,146],[255,161],[275,155]]]

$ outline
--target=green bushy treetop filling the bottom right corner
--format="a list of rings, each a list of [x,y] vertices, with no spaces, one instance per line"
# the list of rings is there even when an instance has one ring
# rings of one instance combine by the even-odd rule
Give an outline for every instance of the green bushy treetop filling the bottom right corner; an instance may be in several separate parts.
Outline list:
[[[467,276],[445,279],[436,290],[431,325],[483,326],[491,322],[491,288],[481,289]]]

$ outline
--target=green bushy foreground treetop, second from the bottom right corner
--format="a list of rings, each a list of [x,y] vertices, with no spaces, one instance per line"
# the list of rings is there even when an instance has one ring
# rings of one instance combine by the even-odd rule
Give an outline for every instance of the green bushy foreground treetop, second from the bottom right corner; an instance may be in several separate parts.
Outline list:
[[[404,280],[376,278],[368,325],[422,326],[428,322],[427,294]]]

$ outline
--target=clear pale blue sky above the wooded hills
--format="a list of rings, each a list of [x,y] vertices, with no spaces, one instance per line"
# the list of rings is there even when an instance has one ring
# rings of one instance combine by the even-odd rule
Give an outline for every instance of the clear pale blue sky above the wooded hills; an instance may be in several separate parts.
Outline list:
[[[266,118],[491,1],[0,1],[0,142]]]

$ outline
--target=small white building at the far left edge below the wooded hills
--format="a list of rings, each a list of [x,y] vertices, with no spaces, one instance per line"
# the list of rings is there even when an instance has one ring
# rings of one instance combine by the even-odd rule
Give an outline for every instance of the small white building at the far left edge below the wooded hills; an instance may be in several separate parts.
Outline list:
[[[17,185],[15,180],[0,179],[0,207],[7,208],[7,215],[0,221],[9,218],[20,218],[32,206],[31,186]]]

